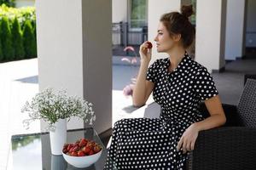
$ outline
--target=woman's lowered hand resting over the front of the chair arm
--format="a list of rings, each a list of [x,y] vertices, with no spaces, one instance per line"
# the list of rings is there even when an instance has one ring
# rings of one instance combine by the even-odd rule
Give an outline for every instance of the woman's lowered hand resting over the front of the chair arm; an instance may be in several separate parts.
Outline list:
[[[196,127],[196,124],[191,124],[183,133],[182,137],[180,138],[179,142],[177,143],[177,151],[182,149],[183,154],[187,151],[194,150],[195,147],[195,140],[197,139],[199,130]]]

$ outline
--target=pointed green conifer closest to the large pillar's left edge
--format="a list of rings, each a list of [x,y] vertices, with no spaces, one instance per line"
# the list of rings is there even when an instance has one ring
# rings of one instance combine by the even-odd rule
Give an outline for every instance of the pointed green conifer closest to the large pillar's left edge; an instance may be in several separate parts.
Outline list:
[[[25,49],[26,59],[36,57],[37,44],[36,44],[36,38],[33,33],[32,24],[30,20],[26,20],[25,22],[23,39],[24,39],[24,49]]]

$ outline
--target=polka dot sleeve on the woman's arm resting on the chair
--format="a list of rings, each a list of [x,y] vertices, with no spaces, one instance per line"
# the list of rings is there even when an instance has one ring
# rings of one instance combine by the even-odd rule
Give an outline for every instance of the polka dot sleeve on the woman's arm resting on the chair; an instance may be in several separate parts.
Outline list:
[[[201,100],[210,99],[218,95],[212,75],[203,67],[195,76],[195,91]]]

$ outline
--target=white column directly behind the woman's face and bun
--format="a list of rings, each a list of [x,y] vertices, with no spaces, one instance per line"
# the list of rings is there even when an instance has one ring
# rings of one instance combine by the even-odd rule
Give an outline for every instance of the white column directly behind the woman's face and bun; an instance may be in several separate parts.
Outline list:
[[[162,14],[166,14],[172,11],[180,12],[181,0],[148,0],[148,41],[153,42],[152,59],[166,58],[167,54],[157,53],[154,42],[154,37],[157,34],[157,27],[160,22]]]

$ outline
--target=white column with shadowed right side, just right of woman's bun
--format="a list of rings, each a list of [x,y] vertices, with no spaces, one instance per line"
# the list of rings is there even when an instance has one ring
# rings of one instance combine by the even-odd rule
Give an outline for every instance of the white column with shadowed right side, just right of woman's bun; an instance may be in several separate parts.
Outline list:
[[[195,60],[208,71],[224,69],[226,0],[196,1]]]

